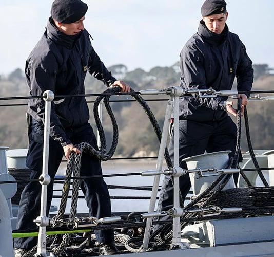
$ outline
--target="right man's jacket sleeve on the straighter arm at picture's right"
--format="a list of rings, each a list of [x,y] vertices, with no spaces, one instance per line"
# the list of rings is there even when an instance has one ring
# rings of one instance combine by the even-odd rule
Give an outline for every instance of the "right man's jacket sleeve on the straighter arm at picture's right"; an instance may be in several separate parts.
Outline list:
[[[253,68],[252,61],[246,53],[246,48],[244,44],[240,41],[240,59],[236,69],[236,78],[237,78],[237,90],[241,91],[250,91],[253,83]],[[246,94],[247,97],[250,94]]]

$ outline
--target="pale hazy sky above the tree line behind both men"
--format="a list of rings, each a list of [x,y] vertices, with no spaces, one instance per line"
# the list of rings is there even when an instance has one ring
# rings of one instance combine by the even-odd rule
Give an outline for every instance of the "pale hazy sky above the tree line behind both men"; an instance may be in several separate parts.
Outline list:
[[[128,71],[172,66],[197,32],[204,0],[84,0],[85,28],[105,65]],[[240,36],[254,64],[274,68],[274,1],[227,0],[227,25]],[[1,0],[0,75],[25,61],[45,31],[50,0]]]

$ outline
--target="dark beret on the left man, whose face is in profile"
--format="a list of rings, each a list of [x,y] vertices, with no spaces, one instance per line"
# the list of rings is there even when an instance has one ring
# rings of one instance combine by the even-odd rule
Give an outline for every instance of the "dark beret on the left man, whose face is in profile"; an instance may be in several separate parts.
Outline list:
[[[50,14],[57,22],[73,23],[84,17],[87,10],[87,4],[81,0],[55,0]]]

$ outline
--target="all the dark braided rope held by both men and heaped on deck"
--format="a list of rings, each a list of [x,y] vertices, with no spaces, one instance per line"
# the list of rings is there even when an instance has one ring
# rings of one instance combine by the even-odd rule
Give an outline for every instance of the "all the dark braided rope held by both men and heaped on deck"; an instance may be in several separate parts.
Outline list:
[[[95,150],[94,148],[92,148],[91,145],[89,145],[86,142],[83,142],[79,145],[76,145],[76,147],[81,151],[81,153],[85,152],[91,156],[95,156],[96,158],[102,161],[109,160],[113,156],[116,146],[118,144],[119,133],[118,133],[118,126],[116,124],[115,117],[109,105],[109,98],[111,96],[110,93],[117,94],[120,90],[121,90],[120,87],[109,88],[104,93],[102,93],[94,102],[93,114],[94,114],[96,125],[99,131],[101,148],[100,150]],[[132,89],[131,89],[131,93],[133,93]],[[140,105],[145,109],[145,112],[148,115],[148,118],[154,128],[154,131],[156,135],[158,136],[159,141],[161,141],[161,137],[162,137],[161,128],[158,122],[156,121],[153,113],[150,111],[149,106],[141,98],[140,95],[132,94],[132,97],[136,101],[138,101]],[[108,153],[106,152],[107,147],[106,147],[105,133],[103,130],[102,123],[100,121],[99,114],[98,114],[98,106],[102,99],[104,99],[104,104],[109,114],[109,117],[111,119],[111,124],[113,127],[113,140]],[[239,162],[239,155],[240,155],[240,138],[241,138],[241,107],[239,106],[241,106],[240,101],[238,101],[236,154],[234,158],[230,159],[227,168],[239,167],[238,162]],[[255,158],[255,154],[253,153],[252,145],[250,141],[246,108],[244,111],[244,117],[246,122],[246,132],[247,132],[246,134],[247,134],[249,152],[253,162],[255,163],[255,167],[259,168],[258,162],[256,161],[256,158]],[[172,168],[173,165],[170,160],[167,149],[165,150],[165,160],[168,168]],[[70,177],[72,176],[72,174],[76,177],[80,176],[80,166],[81,166],[81,154],[75,154],[74,152],[72,152],[68,160],[66,180],[64,181],[64,185],[63,185],[60,208],[57,215],[53,218],[55,221],[62,219],[64,216],[69,187],[70,187]],[[251,187],[250,181],[248,181],[248,178],[245,176],[245,174],[241,172],[241,175],[243,176],[244,180],[246,181],[247,185],[249,185],[249,187],[229,189],[229,190],[223,190],[223,188],[225,187],[228,180],[231,178],[231,174],[222,174],[212,183],[212,185],[209,188],[207,188],[203,193],[201,193],[195,199],[193,199],[184,209],[191,210],[193,208],[205,208],[205,207],[211,207],[211,206],[218,206],[220,208],[225,208],[225,207],[243,208],[243,212],[241,213],[221,214],[218,216],[218,218],[243,216],[250,213],[252,215],[255,215],[255,214],[269,215],[272,213],[273,206],[274,206],[274,188],[268,187],[268,184],[260,170],[258,171],[258,174],[261,177],[266,187],[264,188]],[[80,185],[80,180],[74,179],[73,189],[72,189],[71,211],[69,214],[69,219],[74,219],[76,217],[79,185]],[[216,186],[218,186],[218,188],[216,190],[213,190]],[[212,219],[213,218],[216,218],[216,217],[212,217]],[[200,214],[187,213],[183,218],[181,218],[181,228],[183,229],[190,221],[201,221],[204,219],[205,218],[201,217]],[[211,217],[210,218],[207,217],[206,219],[211,219]],[[151,234],[150,240],[149,240],[149,247],[147,251],[169,248],[169,243],[172,240],[172,224],[171,223],[172,223],[172,219],[165,222],[156,222],[156,223],[153,222],[153,224],[163,224],[163,226],[159,230]],[[128,252],[141,252],[143,236],[142,236],[142,232],[136,232],[136,229],[139,228],[139,226],[141,227],[145,226],[145,223],[141,221],[140,222],[124,221],[124,223],[121,224],[121,226],[122,225],[124,225],[125,228],[132,226],[133,232],[132,230],[127,229],[125,230],[127,233],[127,236],[125,235],[125,233],[124,235],[123,233],[120,233],[119,235],[115,235],[115,239],[118,240],[119,237],[122,237],[122,240],[120,239],[120,241],[119,240],[118,241],[122,243],[123,247],[125,247]],[[95,229],[102,229],[102,227],[107,229],[107,228],[115,227],[115,224],[96,226],[96,227],[97,228]],[[131,233],[131,236],[128,236],[128,233]],[[87,237],[82,236],[82,240],[81,240],[82,243],[76,249],[74,249],[73,246],[70,246],[73,240],[75,241],[75,238],[72,238],[71,233],[65,234],[62,237],[58,235],[47,236],[47,243],[50,245],[51,251],[55,254],[55,256],[64,256],[64,254],[66,254],[65,256],[70,256],[69,255],[70,253],[72,253],[71,256],[73,256],[75,252],[77,253],[81,252],[81,256],[92,256],[98,253],[97,252],[98,247],[94,243],[95,242],[94,238],[92,240],[91,234],[88,234]],[[90,248],[90,250],[86,249],[86,247]],[[120,247],[122,249],[122,246]],[[33,248],[30,252],[28,252],[27,255],[24,255],[24,256],[33,256],[32,254],[35,252],[35,250],[36,248]],[[82,255],[84,254],[85,251],[86,251],[86,254],[88,255]]]

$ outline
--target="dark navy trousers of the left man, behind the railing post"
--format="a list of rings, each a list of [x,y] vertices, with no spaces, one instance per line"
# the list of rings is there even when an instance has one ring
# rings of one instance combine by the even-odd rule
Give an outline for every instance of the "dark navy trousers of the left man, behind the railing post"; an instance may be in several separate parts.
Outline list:
[[[32,121],[32,132],[30,134],[30,146],[27,154],[26,165],[31,169],[31,179],[37,179],[42,174],[43,162],[43,130]],[[87,142],[97,149],[96,138],[92,127],[87,123],[79,128],[73,128],[67,132],[71,142],[79,144]],[[49,144],[49,167],[48,174],[54,178],[57,169],[64,156],[64,150],[60,143],[50,138]],[[102,175],[101,162],[85,153],[82,154],[81,176]],[[103,178],[84,179],[84,191],[90,216],[101,218],[111,216],[110,196],[107,185]],[[53,182],[47,188],[47,215],[51,204],[53,193]],[[37,228],[33,219],[40,216],[41,184],[29,182],[22,192],[18,209],[17,230],[28,230]],[[109,230],[95,230],[97,241],[100,243],[111,243],[114,241],[114,232]],[[14,238],[14,247],[32,249],[37,244],[37,237]]]

